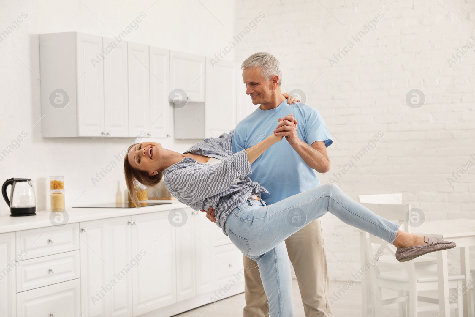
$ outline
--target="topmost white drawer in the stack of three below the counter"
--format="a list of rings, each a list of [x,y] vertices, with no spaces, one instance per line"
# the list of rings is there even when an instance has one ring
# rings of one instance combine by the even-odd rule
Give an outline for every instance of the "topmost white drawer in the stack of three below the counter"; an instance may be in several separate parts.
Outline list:
[[[70,223],[64,227],[45,227],[16,232],[16,252],[33,259],[45,255],[79,250],[79,223]]]

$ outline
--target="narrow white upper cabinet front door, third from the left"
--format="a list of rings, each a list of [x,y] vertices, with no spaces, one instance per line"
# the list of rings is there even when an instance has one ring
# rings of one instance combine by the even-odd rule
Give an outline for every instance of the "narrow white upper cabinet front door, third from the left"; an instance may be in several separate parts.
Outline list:
[[[127,44],[129,79],[129,136],[150,133],[149,47]],[[142,134],[141,134],[142,132]]]

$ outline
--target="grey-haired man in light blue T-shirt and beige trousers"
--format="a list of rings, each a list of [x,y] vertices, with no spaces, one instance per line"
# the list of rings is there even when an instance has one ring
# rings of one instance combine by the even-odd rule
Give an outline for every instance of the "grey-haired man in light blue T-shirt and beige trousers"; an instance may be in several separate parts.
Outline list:
[[[333,143],[330,133],[315,108],[302,103],[287,104],[280,85],[282,71],[271,54],[251,55],[241,65],[246,94],[260,105],[236,126],[233,152],[256,145],[269,134],[284,135],[286,141],[271,146],[254,163],[249,177],[269,193],[261,193],[267,203],[310,190],[319,185],[318,173],[330,169],[326,147]],[[278,124],[277,128],[274,127]],[[215,222],[214,210],[207,217]],[[296,220],[301,215],[296,215]],[[285,240],[295,270],[306,317],[331,317],[328,301],[329,278],[320,219],[314,220]],[[257,263],[244,256],[244,317],[267,317],[267,297]]]

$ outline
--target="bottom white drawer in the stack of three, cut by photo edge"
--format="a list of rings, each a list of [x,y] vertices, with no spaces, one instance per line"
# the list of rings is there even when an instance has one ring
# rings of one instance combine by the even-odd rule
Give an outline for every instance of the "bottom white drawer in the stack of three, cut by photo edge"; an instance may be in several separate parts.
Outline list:
[[[17,317],[80,317],[79,279],[17,293]]]

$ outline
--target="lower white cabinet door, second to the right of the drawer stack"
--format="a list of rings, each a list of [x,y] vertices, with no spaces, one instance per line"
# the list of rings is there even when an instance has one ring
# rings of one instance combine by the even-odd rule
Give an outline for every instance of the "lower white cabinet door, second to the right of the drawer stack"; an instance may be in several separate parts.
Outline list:
[[[175,227],[168,211],[133,215],[133,316],[176,303]]]

